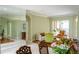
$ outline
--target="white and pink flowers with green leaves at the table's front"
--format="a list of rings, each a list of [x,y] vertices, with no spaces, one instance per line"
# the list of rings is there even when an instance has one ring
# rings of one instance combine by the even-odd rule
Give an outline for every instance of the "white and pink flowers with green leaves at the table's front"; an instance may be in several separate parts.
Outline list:
[[[56,42],[52,43],[51,46],[54,52],[58,54],[66,54],[69,48],[64,44],[57,45]]]

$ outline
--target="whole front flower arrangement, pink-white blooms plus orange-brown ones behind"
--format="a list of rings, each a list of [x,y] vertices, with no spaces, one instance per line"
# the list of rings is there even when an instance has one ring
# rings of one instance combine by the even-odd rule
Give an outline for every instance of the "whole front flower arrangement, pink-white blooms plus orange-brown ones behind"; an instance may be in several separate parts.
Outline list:
[[[70,54],[75,53],[75,50],[71,46],[74,46],[71,39],[60,38],[51,44],[52,50],[58,54]]]

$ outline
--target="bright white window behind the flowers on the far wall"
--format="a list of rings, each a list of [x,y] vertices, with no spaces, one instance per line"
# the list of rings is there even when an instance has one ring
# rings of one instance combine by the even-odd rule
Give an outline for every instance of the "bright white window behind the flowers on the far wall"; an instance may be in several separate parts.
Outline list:
[[[64,30],[69,35],[69,20],[55,20],[52,21],[52,30]]]

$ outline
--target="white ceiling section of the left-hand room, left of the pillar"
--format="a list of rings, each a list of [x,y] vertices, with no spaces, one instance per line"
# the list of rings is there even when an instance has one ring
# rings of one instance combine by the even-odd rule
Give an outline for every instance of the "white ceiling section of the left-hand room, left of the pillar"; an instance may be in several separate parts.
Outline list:
[[[15,6],[1,5],[0,15],[2,16],[22,16],[25,14],[25,10],[16,8]]]

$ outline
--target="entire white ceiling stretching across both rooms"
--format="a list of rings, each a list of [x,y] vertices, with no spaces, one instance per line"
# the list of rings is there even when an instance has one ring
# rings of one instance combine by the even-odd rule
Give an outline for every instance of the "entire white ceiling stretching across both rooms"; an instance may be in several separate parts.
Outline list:
[[[46,16],[79,14],[78,5],[4,5],[0,6],[0,15],[22,16],[26,14],[26,10]]]

